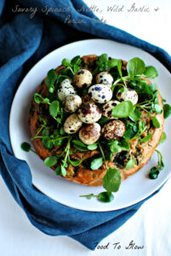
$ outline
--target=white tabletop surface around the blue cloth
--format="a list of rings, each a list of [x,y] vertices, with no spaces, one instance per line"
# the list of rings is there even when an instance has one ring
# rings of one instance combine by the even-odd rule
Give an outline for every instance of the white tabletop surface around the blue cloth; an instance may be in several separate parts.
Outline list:
[[[87,0],[88,6],[96,5],[102,9],[95,13],[104,17],[108,24],[117,26],[151,44],[166,49],[171,53],[170,46],[170,14],[169,0],[123,1],[123,0]],[[131,5],[145,8],[149,13],[128,13]],[[107,6],[118,4],[123,12],[107,12]],[[154,11],[154,9],[159,9]],[[138,255],[138,256],[170,256],[171,252],[171,179],[162,190],[140,208],[126,224],[111,236],[100,242],[106,249],[89,251],[77,241],[66,236],[47,236],[34,228],[26,214],[15,203],[0,177],[0,255],[2,256],[78,256],[78,255]],[[142,249],[126,249],[130,241]],[[120,242],[121,248],[114,249],[113,244]]]

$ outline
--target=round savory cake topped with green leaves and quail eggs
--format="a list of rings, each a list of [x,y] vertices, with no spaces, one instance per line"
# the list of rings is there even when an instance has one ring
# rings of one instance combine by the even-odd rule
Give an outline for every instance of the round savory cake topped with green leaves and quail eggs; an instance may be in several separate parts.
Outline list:
[[[31,140],[57,175],[117,191],[157,148],[163,131],[155,67],[135,57],[64,59],[48,72],[31,102]],[[151,171],[151,178],[158,175]],[[158,164],[158,165],[159,165]]]

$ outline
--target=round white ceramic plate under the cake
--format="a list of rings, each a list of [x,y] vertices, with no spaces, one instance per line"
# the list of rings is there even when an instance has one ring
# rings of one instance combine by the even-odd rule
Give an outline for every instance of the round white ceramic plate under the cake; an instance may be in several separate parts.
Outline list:
[[[150,160],[140,172],[137,172],[123,181],[119,191],[115,193],[115,200],[110,203],[101,203],[97,201],[96,198],[87,200],[86,198],[79,197],[79,195],[87,195],[90,193],[97,195],[101,191],[104,191],[104,189],[103,187],[87,187],[71,183],[62,177],[56,177],[54,171],[44,166],[43,160],[39,159],[36,154],[22,151],[20,144],[23,142],[31,143],[28,111],[32,96],[35,90],[37,90],[37,86],[42,82],[43,78],[46,77],[48,70],[58,67],[61,60],[65,57],[71,59],[75,55],[101,55],[102,53],[107,53],[114,58],[121,58],[125,61],[138,56],[145,61],[145,65],[156,67],[159,73],[159,77],[157,78],[159,89],[162,96],[168,102],[171,102],[169,93],[171,84],[170,73],[168,73],[168,70],[163,67],[157,59],[141,49],[125,44],[118,44],[105,39],[90,39],[66,44],[43,57],[41,61],[38,61],[37,64],[31,68],[31,71],[27,73],[14,96],[9,120],[9,132],[14,155],[21,160],[26,160],[31,168],[32,183],[37,189],[63,205],[93,212],[106,212],[131,206],[143,200],[148,195],[151,195],[168,179],[170,175],[169,142],[171,141],[169,119],[166,120],[164,125],[164,131],[166,131],[168,135],[168,140],[158,147],[162,151],[165,162],[165,167],[159,177],[156,180],[151,180],[147,177],[151,166],[157,165],[157,157],[154,155],[152,160]]]

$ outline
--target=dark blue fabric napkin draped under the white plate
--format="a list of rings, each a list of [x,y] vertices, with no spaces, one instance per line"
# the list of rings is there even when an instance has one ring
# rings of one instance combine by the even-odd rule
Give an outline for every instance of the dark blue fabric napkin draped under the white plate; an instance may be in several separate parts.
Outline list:
[[[37,12],[31,18],[31,12],[19,11],[20,6],[37,8]],[[47,14],[46,6],[66,9],[66,12],[51,11]],[[65,207],[39,192],[31,184],[31,170],[26,161],[15,158],[10,145],[9,111],[14,93],[33,64],[49,51],[85,38],[108,38],[145,49],[170,71],[171,57],[163,49],[116,27],[92,22],[97,18],[88,7],[83,10],[83,6],[86,7],[81,0],[0,1],[0,173],[14,200],[37,229],[51,236],[71,236],[94,250],[105,236],[132,217],[149,197],[117,211],[84,212]],[[66,20],[68,15],[71,19],[85,20],[85,23],[69,23]]]

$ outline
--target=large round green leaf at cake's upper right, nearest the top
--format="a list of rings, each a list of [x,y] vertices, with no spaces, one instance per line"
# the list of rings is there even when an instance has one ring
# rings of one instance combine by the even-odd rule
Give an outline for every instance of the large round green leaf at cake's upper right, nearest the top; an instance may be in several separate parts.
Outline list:
[[[128,61],[127,71],[129,76],[140,75],[145,72],[145,62],[135,57]]]

